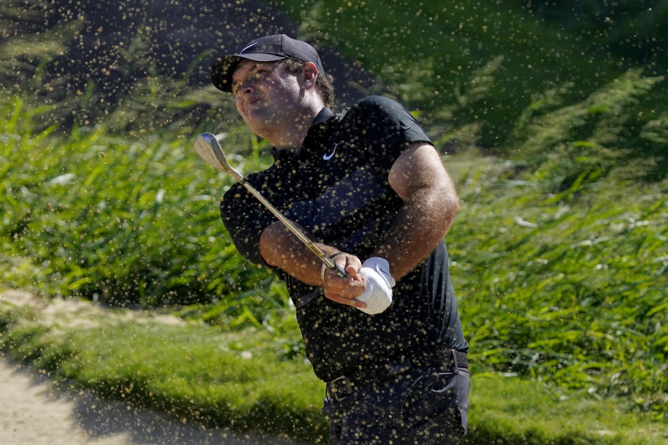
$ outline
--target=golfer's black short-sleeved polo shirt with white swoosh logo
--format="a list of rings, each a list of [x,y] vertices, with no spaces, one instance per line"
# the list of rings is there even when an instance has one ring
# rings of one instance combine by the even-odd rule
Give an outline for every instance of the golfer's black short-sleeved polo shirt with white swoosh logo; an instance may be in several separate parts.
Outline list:
[[[273,165],[247,179],[312,239],[364,261],[387,236],[403,203],[388,183],[389,170],[401,151],[418,141],[431,142],[403,106],[371,96],[338,115],[325,108],[299,154],[274,149]],[[223,197],[221,216],[237,250],[264,264],[260,234],[276,220],[271,212],[235,184]],[[373,316],[273,270],[287,285],[306,354],[322,380],[417,350],[468,350],[443,241],[397,282],[392,305]]]

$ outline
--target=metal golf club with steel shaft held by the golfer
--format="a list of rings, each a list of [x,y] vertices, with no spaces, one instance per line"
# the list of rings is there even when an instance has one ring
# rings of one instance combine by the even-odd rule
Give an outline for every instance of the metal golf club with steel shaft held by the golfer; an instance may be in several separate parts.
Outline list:
[[[207,164],[212,165],[213,167],[217,168],[218,170],[221,170],[221,172],[226,172],[232,175],[234,179],[237,180],[241,185],[246,187],[246,189],[257,198],[258,201],[262,202],[264,204],[264,207],[267,207],[271,213],[273,213],[278,220],[280,220],[281,223],[287,227],[290,232],[295,234],[299,240],[306,245],[313,253],[317,255],[321,261],[326,264],[328,268],[332,270],[333,273],[338,275],[339,277],[347,277],[347,273],[345,273],[340,266],[338,266],[333,259],[328,257],[328,255],[323,252],[313,241],[308,238],[301,230],[299,227],[294,225],[291,220],[285,218],[283,216],[283,213],[280,213],[276,207],[273,207],[271,202],[267,201],[264,196],[260,194],[257,190],[255,190],[255,187],[250,185],[246,179],[244,178],[244,175],[241,175],[240,172],[237,170],[234,170],[232,166],[228,163],[228,159],[225,158],[225,153],[223,153],[223,149],[221,148],[221,144],[218,143],[218,139],[216,139],[216,136],[214,136],[212,133],[201,133],[200,136],[197,136],[195,139],[195,151],[200,155],[202,159],[204,159]]]

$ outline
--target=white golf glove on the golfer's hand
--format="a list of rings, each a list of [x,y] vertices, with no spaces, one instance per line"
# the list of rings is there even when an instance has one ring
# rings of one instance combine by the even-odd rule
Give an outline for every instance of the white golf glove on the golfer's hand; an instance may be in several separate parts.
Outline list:
[[[367,303],[367,307],[358,309],[367,314],[380,314],[388,309],[392,303],[392,286],[396,284],[390,274],[388,260],[379,257],[367,259],[362,264],[360,275],[367,279],[367,286],[356,300]]]

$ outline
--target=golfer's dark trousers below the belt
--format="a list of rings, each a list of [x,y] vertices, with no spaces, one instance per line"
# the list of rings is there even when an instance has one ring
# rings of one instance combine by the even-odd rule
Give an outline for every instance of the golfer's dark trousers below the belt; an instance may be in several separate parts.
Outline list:
[[[340,401],[326,397],[328,445],[454,445],[466,435],[467,369],[411,369]]]

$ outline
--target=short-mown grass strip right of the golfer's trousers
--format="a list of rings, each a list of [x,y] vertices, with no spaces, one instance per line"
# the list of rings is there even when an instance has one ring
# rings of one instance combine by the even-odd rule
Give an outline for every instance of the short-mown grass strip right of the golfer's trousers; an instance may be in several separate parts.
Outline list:
[[[629,415],[625,401],[582,398],[514,377],[473,376],[470,444],[660,444],[665,423]]]

